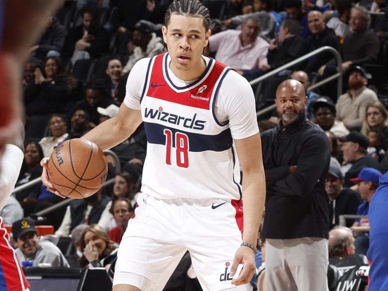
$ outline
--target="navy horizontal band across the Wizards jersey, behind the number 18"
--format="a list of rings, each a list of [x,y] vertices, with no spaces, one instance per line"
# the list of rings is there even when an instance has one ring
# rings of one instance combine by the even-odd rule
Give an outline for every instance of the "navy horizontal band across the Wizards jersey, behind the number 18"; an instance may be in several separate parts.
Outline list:
[[[220,152],[231,148],[233,145],[233,139],[229,128],[216,135],[207,135],[166,127],[164,125],[152,122],[144,122],[144,127],[146,129],[147,141],[150,144],[164,146],[166,144],[166,137],[163,133],[163,130],[169,129],[173,133],[172,146],[175,147],[175,133],[180,132],[186,134],[189,138],[190,152],[202,152],[207,150]]]

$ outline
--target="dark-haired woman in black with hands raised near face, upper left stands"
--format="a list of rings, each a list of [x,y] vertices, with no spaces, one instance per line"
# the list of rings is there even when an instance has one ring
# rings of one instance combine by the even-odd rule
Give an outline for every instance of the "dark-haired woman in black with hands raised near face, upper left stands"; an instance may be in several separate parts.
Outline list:
[[[37,67],[34,82],[24,92],[27,116],[65,112],[71,93],[67,79],[61,60],[56,57],[47,58],[42,69]]]

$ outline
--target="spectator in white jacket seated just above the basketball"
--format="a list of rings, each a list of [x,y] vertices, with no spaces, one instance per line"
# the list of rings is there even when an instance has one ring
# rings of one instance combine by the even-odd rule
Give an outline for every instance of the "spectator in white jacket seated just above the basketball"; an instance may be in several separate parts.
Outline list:
[[[46,136],[39,141],[45,157],[49,157],[54,148],[69,136],[66,120],[67,118],[64,114],[54,113],[51,115],[49,119],[51,136]]]

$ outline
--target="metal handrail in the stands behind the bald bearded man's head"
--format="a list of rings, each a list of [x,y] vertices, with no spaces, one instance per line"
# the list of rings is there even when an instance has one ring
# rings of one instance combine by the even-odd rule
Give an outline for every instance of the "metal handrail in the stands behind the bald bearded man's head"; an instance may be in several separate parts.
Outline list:
[[[253,86],[253,85],[255,85],[255,84],[257,84],[257,83],[259,83],[261,81],[264,81],[265,79],[268,79],[269,77],[272,77],[272,76],[276,75],[277,73],[279,73],[279,72],[281,72],[281,71],[283,71],[285,69],[288,69],[288,68],[290,68],[290,67],[292,67],[294,65],[297,65],[299,63],[302,63],[302,62],[306,61],[308,58],[310,58],[312,56],[315,56],[317,54],[320,54],[322,52],[325,52],[325,51],[329,51],[329,52],[331,52],[334,55],[334,57],[335,57],[335,59],[337,61],[337,65],[338,65],[338,73],[336,73],[336,74],[334,74],[334,75],[332,75],[330,77],[327,77],[326,79],[324,79],[322,81],[319,81],[318,83],[315,83],[314,85],[310,86],[308,89],[309,90],[313,90],[313,89],[318,88],[318,87],[320,87],[320,86],[322,86],[322,85],[324,85],[324,84],[326,84],[326,83],[328,83],[330,81],[338,79],[338,81],[337,81],[337,83],[338,83],[337,84],[337,94],[339,96],[339,95],[342,94],[342,75],[343,75],[342,59],[341,59],[341,56],[340,56],[339,52],[336,49],[334,49],[332,47],[329,47],[329,46],[324,46],[322,48],[315,49],[315,50],[305,54],[304,56],[301,56],[300,58],[297,58],[296,60],[293,60],[290,63],[287,63],[286,65],[282,65],[282,66],[276,68],[275,70],[273,70],[271,72],[268,72],[265,75],[262,75],[259,78],[256,78],[255,80],[250,81],[249,84],[251,86]],[[264,113],[270,112],[275,107],[276,107],[275,104],[270,105],[270,106],[268,106],[268,107],[266,107],[266,108],[264,108],[262,110],[259,110],[256,113],[256,115],[259,116],[259,115],[262,115]]]

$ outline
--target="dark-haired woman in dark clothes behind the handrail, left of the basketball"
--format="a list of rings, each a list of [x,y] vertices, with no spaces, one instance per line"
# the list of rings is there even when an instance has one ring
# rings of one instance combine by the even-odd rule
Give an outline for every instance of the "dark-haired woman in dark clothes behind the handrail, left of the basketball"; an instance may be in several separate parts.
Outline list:
[[[17,178],[15,187],[21,186],[42,174],[40,160],[44,158],[42,147],[37,142],[27,142],[24,144],[24,159],[20,169],[19,178]],[[24,210],[34,206],[30,194],[40,190],[41,183],[31,188],[16,193],[16,199]]]

